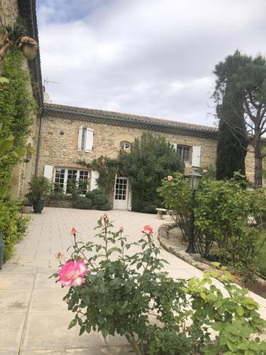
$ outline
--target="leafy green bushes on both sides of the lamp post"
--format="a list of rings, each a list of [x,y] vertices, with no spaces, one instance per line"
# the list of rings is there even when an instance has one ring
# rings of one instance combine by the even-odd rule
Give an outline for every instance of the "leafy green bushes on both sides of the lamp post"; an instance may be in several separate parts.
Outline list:
[[[187,240],[192,209],[189,178],[182,174],[170,181],[165,178],[158,191]],[[253,281],[266,240],[265,190],[246,190],[245,177],[240,174],[231,180],[203,177],[194,214],[196,249],[201,256],[208,258],[214,249],[223,263],[245,281]]]

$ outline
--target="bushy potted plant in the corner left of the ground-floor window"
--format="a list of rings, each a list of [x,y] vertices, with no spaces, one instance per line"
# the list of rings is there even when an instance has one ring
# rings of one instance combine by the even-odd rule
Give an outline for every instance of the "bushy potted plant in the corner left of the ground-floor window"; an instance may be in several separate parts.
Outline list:
[[[44,176],[33,175],[31,181],[28,182],[28,186],[26,197],[33,204],[34,213],[41,213],[45,205],[45,197],[48,197],[51,193],[52,184]]]

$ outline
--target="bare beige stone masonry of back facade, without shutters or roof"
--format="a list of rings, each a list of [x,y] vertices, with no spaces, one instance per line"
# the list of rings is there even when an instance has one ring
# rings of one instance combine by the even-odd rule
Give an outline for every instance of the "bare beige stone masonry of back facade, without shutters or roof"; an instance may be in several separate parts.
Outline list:
[[[77,138],[79,126],[94,129],[94,150],[92,153],[77,151]],[[44,165],[65,168],[81,168],[75,163],[77,160],[92,161],[101,155],[116,158],[120,150],[120,142],[133,142],[134,138],[142,135],[144,129],[127,126],[111,126],[109,124],[92,123],[77,119],[62,119],[44,116],[40,148],[38,174],[43,175]],[[201,166],[215,165],[216,140],[211,138],[198,138],[182,136],[171,133],[151,131],[156,135],[165,136],[172,142],[185,146],[201,146]],[[191,170],[186,167],[187,172]]]

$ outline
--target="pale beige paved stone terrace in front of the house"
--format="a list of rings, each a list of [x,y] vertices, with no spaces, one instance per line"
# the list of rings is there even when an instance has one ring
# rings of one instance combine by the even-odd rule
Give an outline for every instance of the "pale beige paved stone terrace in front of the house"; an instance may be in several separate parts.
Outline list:
[[[66,290],[55,284],[49,276],[55,272],[58,251],[66,253],[74,226],[83,241],[92,240],[94,226],[102,212],[80,209],[45,207],[42,214],[32,214],[28,236],[17,246],[13,256],[0,271],[0,355],[33,354],[132,354],[125,339],[98,333],[82,334],[74,327],[67,330],[73,314],[62,302]],[[145,224],[157,229],[165,220],[153,214],[128,211],[110,211],[114,226],[123,226],[130,241],[138,241]],[[169,220],[170,222],[170,220]],[[169,261],[167,271],[174,278],[201,277],[193,266],[162,250]],[[260,302],[262,316],[266,318],[266,300],[253,295]]]

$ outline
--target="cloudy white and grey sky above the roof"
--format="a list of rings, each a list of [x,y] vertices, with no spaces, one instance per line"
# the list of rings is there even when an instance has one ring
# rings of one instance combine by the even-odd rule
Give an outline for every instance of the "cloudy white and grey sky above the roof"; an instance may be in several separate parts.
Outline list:
[[[37,4],[43,79],[55,104],[214,125],[216,63],[237,48],[266,54],[265,0]]]

